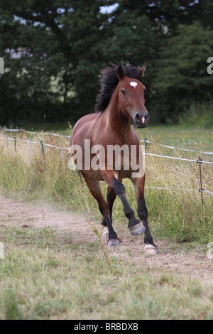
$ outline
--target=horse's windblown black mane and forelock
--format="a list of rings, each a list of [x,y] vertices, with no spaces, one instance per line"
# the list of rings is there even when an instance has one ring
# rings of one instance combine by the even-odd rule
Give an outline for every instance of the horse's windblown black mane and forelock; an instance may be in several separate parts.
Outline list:
[[[119,83],[119,78],[117,77],[117,68],[119,65],[111,64],[111,67],[105,68],[102,70],[102,79],[101,79],[101,90],[97,96],[95,112],[104,112],[107,109],[111,95],[113,95],[116,86]],[[137,79],[141,81],[141,76],[139,75],[139,69],[134,68],[129,63],[122,65],[124,71],[128,77]]]

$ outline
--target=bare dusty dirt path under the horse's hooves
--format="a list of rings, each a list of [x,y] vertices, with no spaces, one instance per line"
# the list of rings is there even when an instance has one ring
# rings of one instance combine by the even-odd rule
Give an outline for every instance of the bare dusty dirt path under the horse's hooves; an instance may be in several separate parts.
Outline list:
[[[99,222],[92,222],[102,232]],[[58,210],[54,205],[25,203],[12,200],[0,194],[0,226],[38,228],[44,225],[55,227],[59,232],[67,231],[70,242],[96,242],[87,215],[79,215]],[[130,262],[143,261],[151,269],[160,267],[165,272],[179,271],[192,278],[213,282],[213,259],[207,258],[207,247],[197,245],[175,244],[168,241],[155,240],[158,244],[157,256],[143,254],[141,237],[132,237],[125,227],[116,226],[116,232],[123,240],[118,248],[109,249],[116,257],[128,258]]]

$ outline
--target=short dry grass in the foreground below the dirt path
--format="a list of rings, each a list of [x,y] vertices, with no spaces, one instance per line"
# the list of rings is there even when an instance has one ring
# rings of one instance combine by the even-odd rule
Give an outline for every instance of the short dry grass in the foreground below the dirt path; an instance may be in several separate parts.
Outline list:
[[[55,230],[4,227],[1,319],[212,319],[209,284],[97,243],[70,244]]]

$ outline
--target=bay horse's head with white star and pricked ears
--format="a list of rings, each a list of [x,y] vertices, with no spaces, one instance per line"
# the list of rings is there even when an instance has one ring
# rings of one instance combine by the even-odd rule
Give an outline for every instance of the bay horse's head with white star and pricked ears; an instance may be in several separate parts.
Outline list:
[[[143,77],[146,64],[138,70],[139,77]],[[148,126],[149,113],[145,107],[144,90],[145,86],[141,81],[128,77],[124,68],[119,65],[117,69],[119,77],[119,102],[121,111],[126,117],[131,117],[138,128]]]

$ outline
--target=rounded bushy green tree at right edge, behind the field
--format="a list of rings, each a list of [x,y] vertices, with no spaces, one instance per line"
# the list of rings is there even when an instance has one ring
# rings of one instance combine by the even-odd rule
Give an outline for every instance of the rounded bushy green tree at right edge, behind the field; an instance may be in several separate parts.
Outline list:
[[[213,31],[195,22],[180,25],[176,33],[163,43],[152,86],[153,110],[161,122],[176,122],[190,104],[212,100],[213,75],[207,73],[207,59],[212,55]]]

